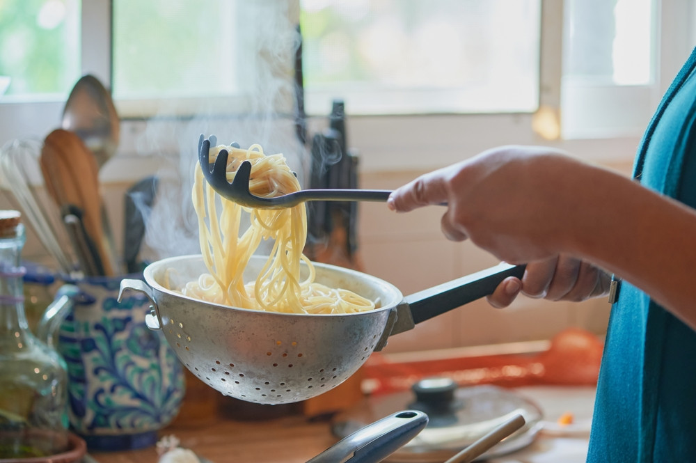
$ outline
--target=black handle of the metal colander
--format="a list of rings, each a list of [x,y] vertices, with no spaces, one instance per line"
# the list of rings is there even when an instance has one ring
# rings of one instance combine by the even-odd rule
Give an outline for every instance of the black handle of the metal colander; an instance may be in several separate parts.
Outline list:
[[[511,265],[503,262],[495,267],[406,296],[404,297],[406,304],[400,308],[399,319],[391,334],[409,330],[414,324],[425,322],[436,315],[491,295],[500,282],[508,276],[522,278],[524,269],[525,265]],[[404,310],[405,307],[408,307],[408,311]],[[411,320],[408,320],[409,313]]]

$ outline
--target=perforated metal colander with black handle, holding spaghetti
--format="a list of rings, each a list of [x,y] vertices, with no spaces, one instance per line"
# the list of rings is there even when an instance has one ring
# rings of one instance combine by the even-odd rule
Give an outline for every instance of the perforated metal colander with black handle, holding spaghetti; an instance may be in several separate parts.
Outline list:
[[[251,259],[250,279],[265,260]],[[523,272],[503,264],[404,299],[374,276],[314,265],[318,283],[356,292],[377,301],[378,308],[338,315],[272,313],[211,304],[168,289],[207,272],[200,255],[154,262],[145,269],[145,282],[123,280],[121,293],[137,290],[150,298],[148,327],[161,329],[180,361],[203,382],[248,402],[281,404],[335,388],[391,334],[483,297],[503,278]]]

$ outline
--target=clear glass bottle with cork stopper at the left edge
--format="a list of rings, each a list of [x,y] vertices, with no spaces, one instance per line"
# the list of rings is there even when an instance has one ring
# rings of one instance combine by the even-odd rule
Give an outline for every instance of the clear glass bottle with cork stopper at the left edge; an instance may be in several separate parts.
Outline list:
[[[68,449],[65,363],[31,333],[24,314],[25,240],[19,212],[0,211],[0,459]]]

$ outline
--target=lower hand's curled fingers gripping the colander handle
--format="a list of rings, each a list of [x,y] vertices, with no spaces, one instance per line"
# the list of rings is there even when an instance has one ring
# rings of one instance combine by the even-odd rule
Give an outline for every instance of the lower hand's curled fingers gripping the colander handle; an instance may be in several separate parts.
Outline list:
[[[487,299],[493,307],[503,308],[522,293],[552,301],[584,301],[607,295],[610,276],[582,260],[560,255],[530,262],[522,279],[510,276]]]

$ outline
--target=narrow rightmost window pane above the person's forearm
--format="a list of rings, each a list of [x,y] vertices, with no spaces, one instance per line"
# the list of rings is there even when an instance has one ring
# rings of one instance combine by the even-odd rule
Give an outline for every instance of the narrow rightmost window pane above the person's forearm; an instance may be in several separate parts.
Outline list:
[[[561,132],[638,136],[656,104],[655,0],[564,0]]]

